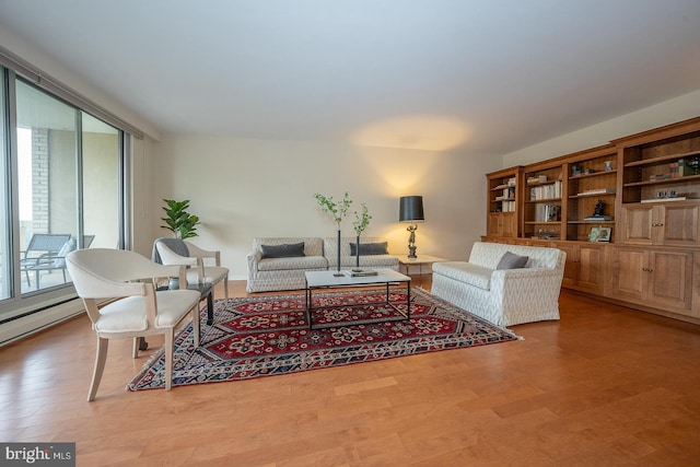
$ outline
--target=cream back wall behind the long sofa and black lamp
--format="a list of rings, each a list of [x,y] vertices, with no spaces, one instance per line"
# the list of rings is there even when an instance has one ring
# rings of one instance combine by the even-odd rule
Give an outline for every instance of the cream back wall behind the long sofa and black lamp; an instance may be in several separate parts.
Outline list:
[[[245,279],[245,256],[256,236],[332,236],[315,192],[354,208],[366,202],[373,219],[368,236],[389,238],[392,253],[407,253],[408,232],[398,223],[398,199],[422,195],[425,222],[417,232],[418,254],[466,258],[486,232],[487,172],[500,157],[432,151],[351,147],[298,141],[165,135],[153,151],[153,237],[162,198],[189,199],[201,218],[194,243],[222,252],[232,279]],[[354,235],[352,221],[343,236]]]

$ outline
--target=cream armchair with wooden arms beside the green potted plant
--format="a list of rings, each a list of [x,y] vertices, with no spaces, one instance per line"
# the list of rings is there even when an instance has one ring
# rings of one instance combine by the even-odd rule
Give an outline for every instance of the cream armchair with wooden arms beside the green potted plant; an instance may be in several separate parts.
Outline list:
[[[221,253],[202,249],[191,242],[179,238],[162,237],[153,242],[153,261],[162,265],[185,266],[189,284],[223,281],[224,295],[229,297],[229,268],[221,266]],[[207,261],[208,259],[208,261]],[[212,262],[207,265],[206,262]]]

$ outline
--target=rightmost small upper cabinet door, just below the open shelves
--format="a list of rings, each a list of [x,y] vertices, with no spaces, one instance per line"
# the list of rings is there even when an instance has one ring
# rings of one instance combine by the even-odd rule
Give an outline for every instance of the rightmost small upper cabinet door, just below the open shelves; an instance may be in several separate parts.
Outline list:
[[[660,244],[700,245],[700,205],[668,203],[658,208],[654,229],[658,229]]]

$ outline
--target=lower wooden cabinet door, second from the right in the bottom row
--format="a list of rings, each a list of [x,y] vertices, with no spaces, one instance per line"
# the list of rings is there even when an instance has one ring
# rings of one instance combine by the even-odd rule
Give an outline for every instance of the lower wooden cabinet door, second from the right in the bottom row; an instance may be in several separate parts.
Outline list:
[[[644,303],[649,280],[646,248],[614,248],[611,297]]]

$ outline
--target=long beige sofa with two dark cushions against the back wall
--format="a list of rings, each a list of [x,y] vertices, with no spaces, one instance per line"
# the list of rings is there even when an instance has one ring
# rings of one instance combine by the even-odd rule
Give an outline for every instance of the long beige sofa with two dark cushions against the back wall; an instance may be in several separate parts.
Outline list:
[[[381,237],[361,237],[360,244],[384,243]],[[304,256],[264,257],[262,249],[270,246],[295,245],[303,243]],[[342,237],[340,242],[340,268],[355,266],[355,257],[350,255],[350,243],[354,237]],[[336,269],[338,265],[337,237],[257,237],[253,240],[253,249],[246,257],[248,268],[248,292],[268,292],[276,290],[296,290],[306,287],[305,271],[325,271]],[[388,245],[388,243],[387,243]],[[362,246],[361,246],[362,248]],[[268,248],[269,249],[269,248]],[[390,268],[398,270],[398,258],[390,254],[361,255],[361,268]]]

